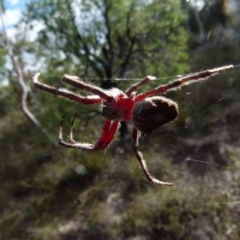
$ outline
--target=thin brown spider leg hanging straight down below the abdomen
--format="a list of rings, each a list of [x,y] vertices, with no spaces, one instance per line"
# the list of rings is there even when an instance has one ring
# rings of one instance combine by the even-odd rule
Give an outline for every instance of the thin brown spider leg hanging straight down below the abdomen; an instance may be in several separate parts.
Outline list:
[[[138,163],[145,175],[145,177],[147,178],[147,180],[151,183],[157,184],[157,185],[162,185],[162,186],[172,186],[172,183],[169,182],[162,182],[156,178],[154,178],[148,171],[147,169],[147,165],[146,162],[143,159],[142,153],[138,151],[138,139],[140,137],[140,132],[136,129],[133,128],[133,132],[132,132],[132,149],[134,151],[134,154],[138,160]]]

